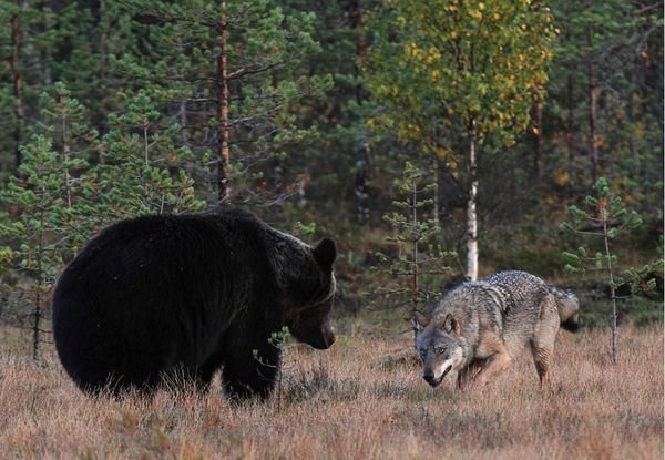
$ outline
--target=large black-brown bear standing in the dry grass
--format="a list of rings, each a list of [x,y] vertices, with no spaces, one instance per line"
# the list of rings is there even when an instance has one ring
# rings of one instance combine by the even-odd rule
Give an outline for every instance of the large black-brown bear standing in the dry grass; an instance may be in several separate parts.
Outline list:
[[[233,208],[120,222],[60,277],[58,355],[86,392],[150,395],[173,376],[205,389],[223,368],[232,397],[266,397],[273,333],[288,326],[319,349],[335,340],[335,257],[331,239],[311,248]]]

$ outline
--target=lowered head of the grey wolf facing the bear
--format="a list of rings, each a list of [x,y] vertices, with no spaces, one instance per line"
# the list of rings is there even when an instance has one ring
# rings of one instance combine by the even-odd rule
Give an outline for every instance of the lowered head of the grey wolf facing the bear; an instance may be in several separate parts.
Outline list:
[[[422,361],[422,378],[437,387],[449,371],[459,370],[467,356],[461,325],[452,315],[428,319],[420,313],[416,313],[412,324],[416,351]]]

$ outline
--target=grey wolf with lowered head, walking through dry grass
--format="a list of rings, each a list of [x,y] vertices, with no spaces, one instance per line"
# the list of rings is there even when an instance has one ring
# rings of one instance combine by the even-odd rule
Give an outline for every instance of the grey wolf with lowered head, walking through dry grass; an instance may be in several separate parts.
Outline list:
[[[463,283],[437,303],[429,318],[417,314],[413,319],[422,377],[436,387],[452,371],[458,387],[482,386],[529,345],[542,386],[560,323],[576,315],[576,306],[572,293],[525,272]]]

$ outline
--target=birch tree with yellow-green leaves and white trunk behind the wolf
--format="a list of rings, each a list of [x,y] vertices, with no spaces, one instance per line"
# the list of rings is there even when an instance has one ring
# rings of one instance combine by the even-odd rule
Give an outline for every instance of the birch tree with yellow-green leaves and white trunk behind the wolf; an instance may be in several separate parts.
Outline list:
[[[386,0],[371,27],[366,83],[383,109],[372,127],[417,143],[456,176],[466,164],[467,277],[477,279],[479,162],[485,145],[514,144],[543,96],[551,12],[531,0]]]

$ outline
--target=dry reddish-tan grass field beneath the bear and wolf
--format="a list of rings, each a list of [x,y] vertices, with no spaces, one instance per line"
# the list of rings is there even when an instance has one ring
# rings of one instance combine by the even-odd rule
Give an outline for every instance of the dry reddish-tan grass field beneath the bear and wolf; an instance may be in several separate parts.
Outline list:
[[[561,331],[548,390],[526,352],[453,392],[419,377],[408,335],[340,335],[289,347],[279,393],[241,406],[218,388],[90,399],[52,355],[0,344],[0,458],[662,459],[662,326],[622,329],[616,366],[608,343]]]

